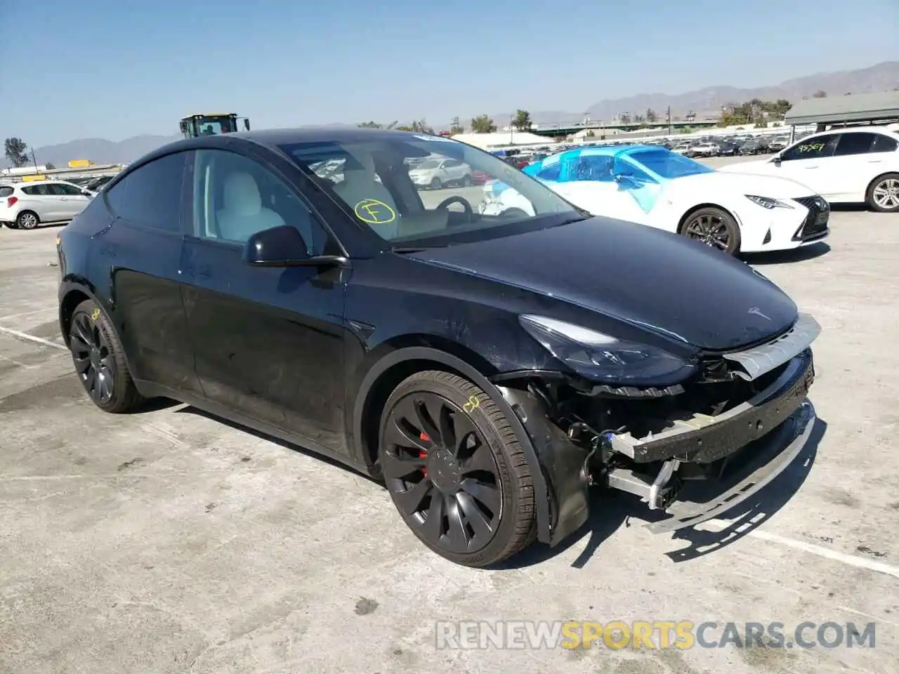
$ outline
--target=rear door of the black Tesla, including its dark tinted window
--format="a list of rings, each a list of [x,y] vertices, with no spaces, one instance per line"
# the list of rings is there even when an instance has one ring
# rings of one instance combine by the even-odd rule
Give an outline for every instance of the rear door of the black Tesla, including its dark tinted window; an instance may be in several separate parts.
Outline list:
[[[186,152],[161,156],[97,197],[113,220],[96,235],[92,263],[109,269],[110,286],[99,294],[112,300],[133,377],[197,395],[202,389],[179,282],[189,158]]]

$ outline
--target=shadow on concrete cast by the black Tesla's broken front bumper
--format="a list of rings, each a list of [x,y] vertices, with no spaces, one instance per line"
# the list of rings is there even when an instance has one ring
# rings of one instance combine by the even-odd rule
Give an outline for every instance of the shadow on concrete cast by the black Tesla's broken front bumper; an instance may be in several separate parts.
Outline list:
[[[799,490],[810,473],[817,456],[817,448],[827,424],[820,418],[814,420],[814,427],[806,442],[806,447],[797,455],[783,473],[752,495],[747,501],[720,513],[718,521],[727,520],[728,525],[720,530],[689,527],[672,532],[672,542],[687,541],[689,545],[665,553],[673,562],[687,562],[705,554],[731,545],[746,536],[754,528],[770,519],[784,507]],[[623,525],[648,525],[666,519],[664,513],[646,510],[645,503],[624,493],[598,491],[591,499],[590,518],[583,527],[556,547],[533,545],[517,554],[506,563],[491,568],[514,569],[533,566],[565,552],[569,547],[589,536],[587,545],[571,564],[581,569],[600,548]],[[702,525],[699,525],[702,527]],[[663,536],[663,535],[660,535]]]

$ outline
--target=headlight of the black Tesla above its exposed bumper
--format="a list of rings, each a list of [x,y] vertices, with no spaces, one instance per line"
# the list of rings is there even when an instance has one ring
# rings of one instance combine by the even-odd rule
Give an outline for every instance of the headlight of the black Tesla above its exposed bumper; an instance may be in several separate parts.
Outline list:
[[[538,315],[521,315],[519,323],[557,359],[583,377],[621,386],[670,386],[696,366],[646,344],[621,341],[580,325]]]

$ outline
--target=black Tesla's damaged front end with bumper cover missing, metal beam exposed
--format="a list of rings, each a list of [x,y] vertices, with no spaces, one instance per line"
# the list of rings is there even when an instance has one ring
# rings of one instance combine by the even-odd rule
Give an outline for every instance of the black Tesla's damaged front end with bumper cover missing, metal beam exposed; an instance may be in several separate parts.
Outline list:
[[[546,478],[551,527],[541,540],[556,545],[583,525],[592,485],[668,513],[647,525],[654,532],[699,524],[758,492],[811,435],[810,345],[820,332],[799,315],[752,349],[701,353],[698,371],[672,386],[597,385],[559,372],[495,376]],[[713,496],[686,498],[694,481],[714,486]]]

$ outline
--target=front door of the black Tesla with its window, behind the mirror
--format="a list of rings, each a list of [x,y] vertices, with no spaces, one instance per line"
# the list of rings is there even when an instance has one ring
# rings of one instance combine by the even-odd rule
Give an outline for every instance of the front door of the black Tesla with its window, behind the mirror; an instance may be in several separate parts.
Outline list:
[[[347,272],[243,262],[250,235],[273,226],[297,227],[311,254],[334,242],[298,191],[244,155],[197,151],[193,195],[182,296],[205,395],[311,448],[345,453]]]

